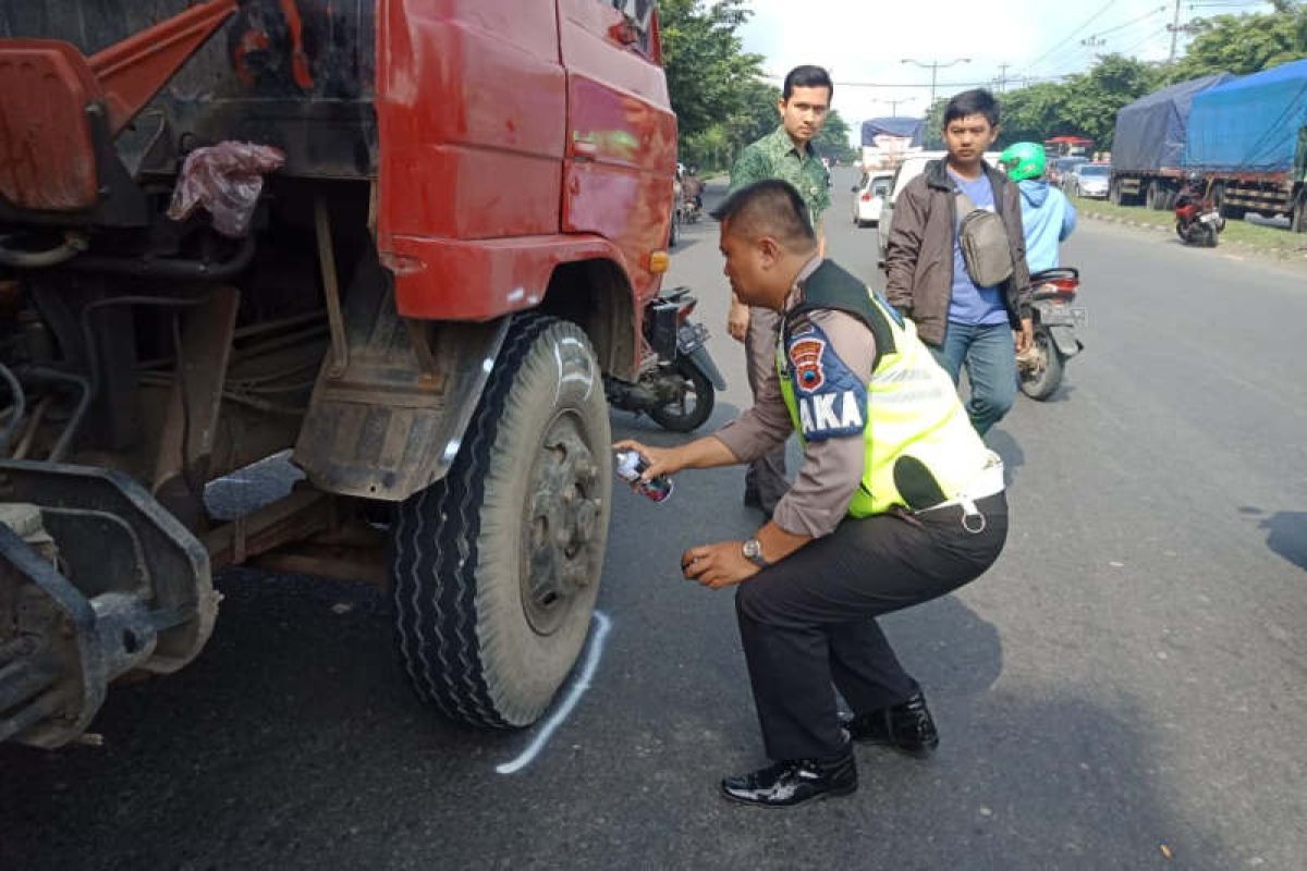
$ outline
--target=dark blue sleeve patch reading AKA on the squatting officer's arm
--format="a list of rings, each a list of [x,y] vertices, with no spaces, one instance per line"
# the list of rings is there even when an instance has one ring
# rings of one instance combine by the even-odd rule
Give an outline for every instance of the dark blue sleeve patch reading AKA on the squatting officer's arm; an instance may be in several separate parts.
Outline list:
[[[786,349],[804,439],[860,435],[867,427],[867,385],[816,325],[789,337]]]

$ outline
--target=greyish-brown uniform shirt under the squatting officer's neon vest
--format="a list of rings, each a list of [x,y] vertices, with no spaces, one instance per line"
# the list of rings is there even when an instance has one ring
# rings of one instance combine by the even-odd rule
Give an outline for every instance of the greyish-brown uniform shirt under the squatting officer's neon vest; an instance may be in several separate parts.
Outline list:
[[[786,298],[786,312],[802,302],[802,285],[822,264],[813,257],[799,272],[795,287]],[[863,380],[872,380],[876,340],[872,330],[852,315],[839,311],[814,311],[809,315],[830,340],[831,350]],[[779,341],[772,337],[772,349]],[[786,400],[780,393],[780,376],[772,366],[766,381],[754,394],[754,406],[714,434],[741,462],[766,454],[784,444],[793,432]],[[867,456],[863,434],[809,441],[804,445],[804,464],[793,486],[776,504],[772,520],[787,533],[821,538],[834,531],[848,512],[848,503],[863,481]]]

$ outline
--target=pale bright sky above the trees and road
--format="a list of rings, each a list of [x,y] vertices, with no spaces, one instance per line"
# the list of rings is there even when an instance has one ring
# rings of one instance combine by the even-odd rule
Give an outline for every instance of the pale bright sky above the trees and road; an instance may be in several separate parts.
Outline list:
[[[740,37],[745,51],[765,57],[776,85],[799,64],[826,67],[835,80],[833,107],[857,145],[864,119],[925,111],[933,61],[940,64],[936,93],[948,95],[1055,81],[1085,72],[1095,54],[1166,60],[1176,1],[1182,25],[1270,9],[1256,0],[749,0],[753,17]],[[945,67],[963,57],[968,61]]]

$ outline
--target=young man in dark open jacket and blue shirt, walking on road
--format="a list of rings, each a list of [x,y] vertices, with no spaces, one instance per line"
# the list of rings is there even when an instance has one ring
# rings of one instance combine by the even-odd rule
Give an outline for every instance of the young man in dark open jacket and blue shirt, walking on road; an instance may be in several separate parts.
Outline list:
[[[1019,193],[983,158],[997,136],[999,103],[989,91],[968,90],[949,101],[949,155],[928,165],[899,195],[885,253],[886,298],[916,323],[954,384],[966,367],[967,414],[980,435],[1016,401],[1016,354],[1033,336]],[[958,191],[1002,218],[1013,272],[997,286],[978,287],[967,274],[958,244]]]

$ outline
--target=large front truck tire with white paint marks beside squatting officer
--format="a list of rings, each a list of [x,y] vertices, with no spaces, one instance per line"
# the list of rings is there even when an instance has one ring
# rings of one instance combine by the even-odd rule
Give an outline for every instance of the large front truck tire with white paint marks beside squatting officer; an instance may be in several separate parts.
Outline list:
[[[586,334],[519,316],[448,474],[391,528],[400,656],[448,718],[527,726],[566,679],[599,594],[610,440]]]

